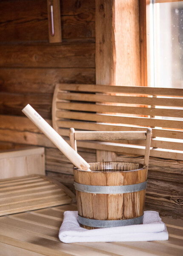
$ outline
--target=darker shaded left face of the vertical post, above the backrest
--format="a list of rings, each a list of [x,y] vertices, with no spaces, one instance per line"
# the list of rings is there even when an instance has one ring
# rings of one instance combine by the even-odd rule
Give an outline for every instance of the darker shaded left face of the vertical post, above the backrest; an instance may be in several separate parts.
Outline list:
[[[115,83],[114,1],[96,0],[96,84]]]

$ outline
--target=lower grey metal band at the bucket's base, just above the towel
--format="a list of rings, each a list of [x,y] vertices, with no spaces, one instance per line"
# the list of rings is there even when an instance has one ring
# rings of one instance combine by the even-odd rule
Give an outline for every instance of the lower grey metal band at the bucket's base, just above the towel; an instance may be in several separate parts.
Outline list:
[[[120,227],[129,226],[143,223],[143,215],[137,218],[127,219],[127,220],[116,220],[116,221],[103,221],[103,220],[93,220],[88,218],[83,218],[78,215],[78,221],[80,224],[89,227]]]

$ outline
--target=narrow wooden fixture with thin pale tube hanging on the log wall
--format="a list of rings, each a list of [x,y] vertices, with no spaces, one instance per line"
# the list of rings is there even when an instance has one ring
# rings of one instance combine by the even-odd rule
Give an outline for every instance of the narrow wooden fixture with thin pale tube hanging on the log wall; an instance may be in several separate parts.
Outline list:
[[[47,0],[49,42],[62,42],[61,20],[60,20],[60,0]]]

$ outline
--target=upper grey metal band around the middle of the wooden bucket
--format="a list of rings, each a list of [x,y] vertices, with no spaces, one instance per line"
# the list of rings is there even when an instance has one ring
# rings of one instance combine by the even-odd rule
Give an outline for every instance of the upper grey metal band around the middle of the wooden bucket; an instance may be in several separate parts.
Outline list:
[[[92,186],[80,184],[74,181],[74,187],[77,191],[94,193],[94,194],[123,194],[137,192],[146,189],[147,181],[133,185],[123,185],[123,186]]]

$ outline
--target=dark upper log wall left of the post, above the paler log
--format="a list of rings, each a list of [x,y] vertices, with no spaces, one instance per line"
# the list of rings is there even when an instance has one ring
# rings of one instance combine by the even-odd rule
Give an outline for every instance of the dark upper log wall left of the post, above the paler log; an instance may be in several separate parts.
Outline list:
[[[55,85],[95,83],[95,3],[60,1],[62,43],[49,44],[46,0],[0,2],[0,113],[29,102],[51,119]]]

